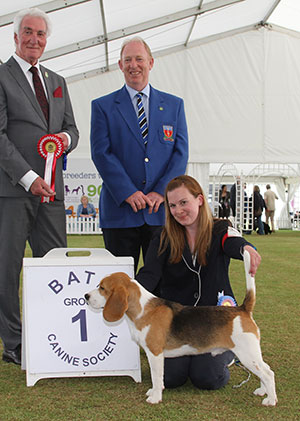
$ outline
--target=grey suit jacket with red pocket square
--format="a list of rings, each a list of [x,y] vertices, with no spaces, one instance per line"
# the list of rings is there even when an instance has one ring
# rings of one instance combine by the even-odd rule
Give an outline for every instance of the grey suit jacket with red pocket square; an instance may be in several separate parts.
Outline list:
[[[29,171],[44,178],[45,160],[37,151],[46,134],[67,132],[71,150],[77,146],[78,130],[63,77],[41,66],[49,99],[49,123],[23,71],[13,57],[0,66],[0,197],[32,196],[18,184]],[[57,160],[56,199],[63,200],[62,158]]]

